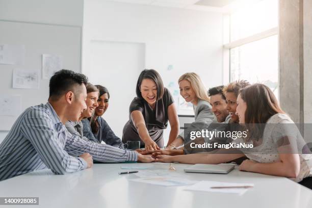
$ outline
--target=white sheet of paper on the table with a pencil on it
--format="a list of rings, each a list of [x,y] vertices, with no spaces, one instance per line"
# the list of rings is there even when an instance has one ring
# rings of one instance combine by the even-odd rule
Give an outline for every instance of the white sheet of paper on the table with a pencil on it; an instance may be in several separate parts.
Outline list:
[[[219,181],[207,181],[202,180],[193,186],[189,186],[184,190],[188,191],[206,191],[206,192],[218,192],[218,193],[232,193],[243,195],[250,188],[222,188],[212,189],[211,187],[231,187],[231,186],[254,186],[253,184],[237,184],[237,183],[224,183]]]

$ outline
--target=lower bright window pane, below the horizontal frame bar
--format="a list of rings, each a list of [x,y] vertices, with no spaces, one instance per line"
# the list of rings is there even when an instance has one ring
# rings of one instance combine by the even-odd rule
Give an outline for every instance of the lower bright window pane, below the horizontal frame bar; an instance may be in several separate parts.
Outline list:
[[[265,84],[278,98],[277,39],[274,35],[230,49],[230,81]]]

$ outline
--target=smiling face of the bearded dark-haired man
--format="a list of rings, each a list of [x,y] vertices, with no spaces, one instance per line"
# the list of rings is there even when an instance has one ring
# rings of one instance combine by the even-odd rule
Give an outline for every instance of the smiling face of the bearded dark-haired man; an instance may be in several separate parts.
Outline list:
[[[228,111],[226,110],[226,101],[222,98],[221,94],[210,96],[210,103],[212,105],[212,111],[217,117],[219,123],[224,122]]]

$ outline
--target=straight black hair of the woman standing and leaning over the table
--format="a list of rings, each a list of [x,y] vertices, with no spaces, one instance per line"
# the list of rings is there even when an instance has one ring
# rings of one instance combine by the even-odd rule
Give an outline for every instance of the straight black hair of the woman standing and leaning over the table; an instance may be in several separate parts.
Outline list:
[[[141,94],[140,87],[141,87],[142,81],[144,79],[150,79],[150,80],[154,81],[156,86],[157,86],[157,100],[163,98],[163,95],[165,92],[163,80],[162,80],[162,77],[160,76],[160,74],[154,69],[144,69],[140,73],[139,79],[137,82],[137,88],[136,88],[137,96],[140,98],[143,98],[142,94]]]

